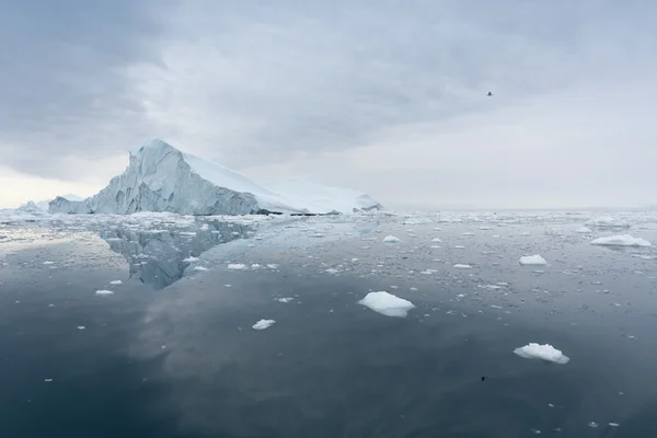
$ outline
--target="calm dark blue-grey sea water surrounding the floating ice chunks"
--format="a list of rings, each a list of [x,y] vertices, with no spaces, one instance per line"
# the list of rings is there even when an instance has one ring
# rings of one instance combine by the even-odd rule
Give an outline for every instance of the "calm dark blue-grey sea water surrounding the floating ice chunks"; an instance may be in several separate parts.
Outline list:
[[[567,218],[341,220],[291,222],[275,243],[219,222],[4,226],[0,435],[657,437],[652,247],[590,245],[615,231]],[[534,253],[549,265],[518,265]],[[357,304],[376,290],[416,309]],[[514,355],[530,342],[570,361]]]

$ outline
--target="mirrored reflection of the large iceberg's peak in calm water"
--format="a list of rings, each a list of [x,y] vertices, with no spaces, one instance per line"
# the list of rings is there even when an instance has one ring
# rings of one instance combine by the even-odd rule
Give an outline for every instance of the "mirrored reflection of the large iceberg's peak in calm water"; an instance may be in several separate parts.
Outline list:
[[[130,266],[130,278],[154,289],[162,289],[182,278],[197,257],[221,243],[253,233],[252,227],[220,221],[201,221],[184,228],[143,230],[128,226],[112,226],[99,231],[110,247],[124,255]]]

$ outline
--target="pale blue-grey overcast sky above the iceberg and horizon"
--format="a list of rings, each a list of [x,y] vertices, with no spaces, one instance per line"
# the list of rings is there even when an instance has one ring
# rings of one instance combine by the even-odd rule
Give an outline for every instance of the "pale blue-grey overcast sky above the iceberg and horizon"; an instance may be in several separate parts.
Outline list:
[[[1,2],[0,207],[93,195],[152,138],[395,209],[657,205],[656,21],[652,0]]]

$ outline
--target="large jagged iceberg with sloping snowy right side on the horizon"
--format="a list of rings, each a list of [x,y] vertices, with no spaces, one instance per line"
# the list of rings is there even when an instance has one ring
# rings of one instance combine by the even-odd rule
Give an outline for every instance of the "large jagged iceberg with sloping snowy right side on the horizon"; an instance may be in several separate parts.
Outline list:
[[[126,171],[82,201],[57,197],[49,212],[119,214],[170,211],[182,215],[257,212],[354,212],[382,209],[350,189],[289,180],[263,186],[222,165],[152,140],[130,150]]]

